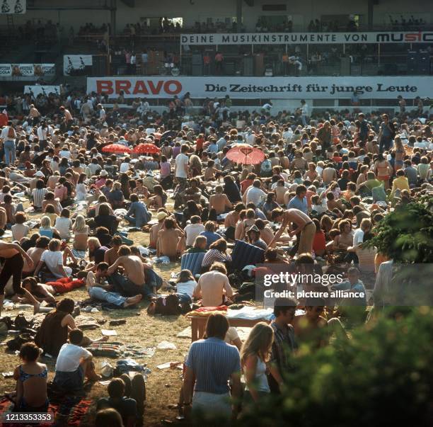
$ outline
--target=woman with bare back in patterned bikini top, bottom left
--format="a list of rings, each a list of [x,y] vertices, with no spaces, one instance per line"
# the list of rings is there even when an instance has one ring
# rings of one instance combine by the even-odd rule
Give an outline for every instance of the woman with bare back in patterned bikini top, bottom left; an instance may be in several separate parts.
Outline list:
[[[35,343],[24,343],[19,353],[22,360],[13,372],[16,380],[16,392],[8,394],[15,402],[14,411],[47,412],[47,365],[37,362],[40,348]]]

